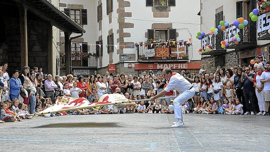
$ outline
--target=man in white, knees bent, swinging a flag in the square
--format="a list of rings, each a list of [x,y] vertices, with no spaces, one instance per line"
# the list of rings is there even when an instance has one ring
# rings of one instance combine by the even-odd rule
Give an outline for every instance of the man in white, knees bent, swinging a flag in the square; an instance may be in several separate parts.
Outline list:
[[[176,72],[172,72],[170,68],[164,68],[162,71],[165,79],[168,80],[168,85],[159,94],[150,98],[150,101],[155,101],[155,99],[164,96],[171,89],[175,89],[180,93],[176,99],[173,100],[174,116],[177,119],[171,127],[183,127],[183,115],[181,110],[181,104],[183,104],[188,99],[192,98],[195,94],[195,88],[189,83],[182,75]]]

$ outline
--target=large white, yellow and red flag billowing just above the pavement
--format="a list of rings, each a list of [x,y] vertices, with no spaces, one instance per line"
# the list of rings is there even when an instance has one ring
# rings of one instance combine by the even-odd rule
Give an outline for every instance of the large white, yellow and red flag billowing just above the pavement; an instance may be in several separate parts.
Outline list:
[[[55,105],[52,107],[48,107],[44,111],[40,111],[33,115],[44,115],[48,113],[55,113],[55,112],[62,112],[62,111],[72,111],[77,109],[86,109],[91,107],[100,107],[106,106],[110,104],[117,104],[117,103],[129,103],[132,102],[129,99],[126,99],[124,95],[121,94],[105,94],[102,95],[98,102],[89,103],[89,101],[85,98],[73,98],[62,96],[56,99]]]

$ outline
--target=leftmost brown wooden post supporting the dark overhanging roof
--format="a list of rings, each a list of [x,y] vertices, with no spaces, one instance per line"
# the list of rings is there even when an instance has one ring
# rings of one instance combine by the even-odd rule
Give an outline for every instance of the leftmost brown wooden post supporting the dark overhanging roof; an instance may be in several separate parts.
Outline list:
[[[20,14],[20,41],[21,41],[21,69],[28,66],[28,49],[27,49],[27,9],[19,7]]]

